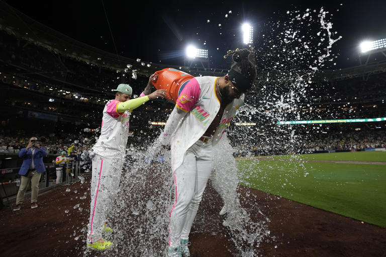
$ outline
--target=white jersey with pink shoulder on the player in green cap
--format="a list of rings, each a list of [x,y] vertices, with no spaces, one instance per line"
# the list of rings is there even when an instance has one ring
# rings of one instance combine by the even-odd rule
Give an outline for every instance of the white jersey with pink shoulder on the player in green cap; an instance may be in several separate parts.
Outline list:
[[[110,100],[103,110],[101,136],[92,147],[94,153],[111,157],[125,154],[129,136],[130,112],[118,112],[118,100]]]

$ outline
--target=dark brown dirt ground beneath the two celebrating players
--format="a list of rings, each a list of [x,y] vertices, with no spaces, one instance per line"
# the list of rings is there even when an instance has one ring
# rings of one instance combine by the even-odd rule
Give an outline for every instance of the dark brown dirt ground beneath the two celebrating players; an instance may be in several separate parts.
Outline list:
[[[82,256],[85,231],[80,230],[88,221],[89,180],[86,177],[83,184],[58,186],[45,192],[39,196],[36,209],[31,209],[26,199],[22,209],[14,214],[8,206],[1,210],[1,255]],[[262,218],[258,208],[270,220],[270,236],[260,244],[259,256],[386,256],[384,228],[243,186],[238,190],[243,196],[256,196],[253,201],[249,200],[251,197],[241,201],[252,219]],[[76,204],[81,211],[74,209]],[[210,210],[212,222],[206,224],[208,232],[199,232],[197,226],[192,228],[192,257],[237,256],[227,228],[222,225],[223,217],[218,215],[222,204],[209,183],[198,217],[203,215],[202,210],[206,210],[206,215]]]

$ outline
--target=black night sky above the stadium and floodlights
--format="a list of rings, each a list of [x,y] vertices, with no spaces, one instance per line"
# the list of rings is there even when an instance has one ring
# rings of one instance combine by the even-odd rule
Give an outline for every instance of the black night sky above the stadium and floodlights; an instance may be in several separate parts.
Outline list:
[[[129,58],[172,65],[183,64],[184,49],[193,43],[208,49],[212,66],[220,67],[227,50],[244,46],[240,30],[243,22],[254,27],[258,48],[262,31],[269,29],[268,22],[288,19],[288,10],[305,12],[309,8],[318,12],[324,7],[333,14],[333,31],[343,37],[333,46],[333,53],[339,54],[338,68],[359,65],[361,41],[386,38],[386,1],[6,2],[83,43]]]

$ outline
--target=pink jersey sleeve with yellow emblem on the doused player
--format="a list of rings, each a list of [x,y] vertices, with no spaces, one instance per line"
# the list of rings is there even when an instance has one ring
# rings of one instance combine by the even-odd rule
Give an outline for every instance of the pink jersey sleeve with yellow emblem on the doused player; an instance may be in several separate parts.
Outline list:
[[[199,100],[200,93],[201,89],[199,81],[197,81],[196,78],[192,78],[182,89],[175,104],[179,109],[182,109],[186,112],[190,111]]]

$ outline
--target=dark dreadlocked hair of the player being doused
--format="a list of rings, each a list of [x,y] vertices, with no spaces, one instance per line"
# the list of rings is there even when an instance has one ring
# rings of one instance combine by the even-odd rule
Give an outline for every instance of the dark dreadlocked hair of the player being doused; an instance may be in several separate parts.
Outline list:
[[[257,75],[256,65],[249,60],[249,55],[253,53],[253,47],[246,49],[236,49],[228,50],[227,54],[224,55],[224,58],[232,55],[232,60],[234,64],[231,66],[231,69],[241,73],[246,78],[255,79]]]

